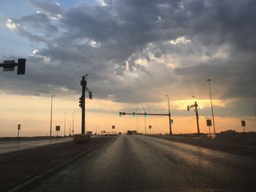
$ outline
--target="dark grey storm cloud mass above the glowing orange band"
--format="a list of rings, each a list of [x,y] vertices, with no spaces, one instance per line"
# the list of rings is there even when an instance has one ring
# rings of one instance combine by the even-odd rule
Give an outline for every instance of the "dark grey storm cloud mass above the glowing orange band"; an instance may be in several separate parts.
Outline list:
[[[42,38],[46,47],[29,58],[29,76],[22,81],[29,89],[22,93],[31,93],[33,85],[37,93],[79,93],[79,79],[89,72],[100,99],[161,101],[173,90],[173,99],[190,93],[208,98],[208,78],[218,99],[255,98],[256,1],[120,0],[65,11],[58,4],[29,2],[42,12],[13,22],[34,26],[18,33]],[[56,15],[61,17],[54,23],[50,17]],[[34,34],[37,27],[54,35]],[[163,62],[167,56],[172,60]]]

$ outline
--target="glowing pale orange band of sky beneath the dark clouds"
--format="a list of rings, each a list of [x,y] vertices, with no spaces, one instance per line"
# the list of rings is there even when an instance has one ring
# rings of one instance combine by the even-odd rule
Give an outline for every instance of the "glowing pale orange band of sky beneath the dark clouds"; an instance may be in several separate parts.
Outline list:
[[[1,115],[0,115],[0,137],[16,137],[17,125],[21,124],[20,137],[46,136],[50,134],[50,97],[44,96],[14,96],[1,94]],[[66,116],[66,134],[72,128],[72,112],[74,111],[75,134],[80,133],[81,113],[78,107],[77,97],[72,99],[53,98],[53,131],[56,135],[55,126],[61,126],[59,135],[64,135],[64,112]],[[4,102],[3,102],[4,101]],[[170,102],[171,107],[177,107],[178,101]],[[121,104],[112,101],[99,99],[86,100],[86,130],[100,133],[100,131],[113,131],[111,126],[115,125],[117,132],[127,132],[127,130],[137,130],[137,118],[132,115],[118,116],[122,107]],[[161,104],[160,104],[161,105]],[[96,112],[101,110],[101,112]],[[105,112],[104,112],[105,111]],[[165,111],[167,112],[167,110]],[[200,114],[200,109],[199,109]],[[189,112],[191,116],[176,116],[173,114],[173,134],[196,133],[195,112]],[[200,114],[201,115],[201,114]],[[211,117],[207,117],[211,118]],[[221,118],[216,115],[216,131],[228,129],[238,132],[244,131],[241,127],[241,120],[246,120],[246,131],[255,131],[255,117],[227,117]],[[200,116],[200,132],[208,133],[206,117]],[[139,132],[145,133],[145,118],[138,117]],[[147,133],[148,125],[152,126],[151,134],[169,133],[167,116],[148,116],[146,118]],[[211,127],[213,132],[213,127]]]

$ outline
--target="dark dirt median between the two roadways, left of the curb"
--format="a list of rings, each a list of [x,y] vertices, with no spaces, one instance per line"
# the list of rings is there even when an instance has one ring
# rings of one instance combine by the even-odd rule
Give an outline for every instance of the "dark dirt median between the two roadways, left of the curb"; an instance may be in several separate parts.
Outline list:
[[[0,191],[7,191],[54,166],[64,163],[64,161],[74,158],[75,155],[94,150],[94,148],[113,138],[115,137],[97,137],[81,144],[63,142],[1,154]]]

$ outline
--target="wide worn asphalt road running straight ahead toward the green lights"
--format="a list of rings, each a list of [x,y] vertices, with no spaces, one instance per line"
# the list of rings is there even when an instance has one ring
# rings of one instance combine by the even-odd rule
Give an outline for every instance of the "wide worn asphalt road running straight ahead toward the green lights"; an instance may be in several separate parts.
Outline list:
[[[256,191],[255,159],[120,135],[31,191]]]

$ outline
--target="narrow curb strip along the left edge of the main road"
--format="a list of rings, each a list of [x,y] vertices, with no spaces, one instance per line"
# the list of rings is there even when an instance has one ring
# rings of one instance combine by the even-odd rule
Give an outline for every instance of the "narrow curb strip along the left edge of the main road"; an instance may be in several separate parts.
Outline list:
[[[113,137],[115,138],[115,137]],[[112,141],[113,139],[110,139],[108,142]],[[37,176],[31,178],[30,180],[27,180],[24,183],[21,183],[20,185],[17,185],[14,188],[11,188],[7,192],[18,192],[18,191],[29,191],[31,188],[34,188],[37,184],[42,182],[42,180],[45,180],[47,177],[50,177],[52,174],[59,172],[59,170],[63,169],[64,166],[67,166],[68,164],[71,164],[74,161],[77,161],[79,158],[82,158],[84,155],[87,155],[88,153],[91,153],[93,150],[95,150],[97,147],[102,147],[103,145],[106,145],[108,142],[99,143],[98,145],[92,147],[90,150],[80,153],[78,155],[75,155],[75,157],[70,158],[67,161],[64,161],[63,163],[54,166],[53,168],[49,169],[46,172],[42,172],[41,174],[38,174]]]

